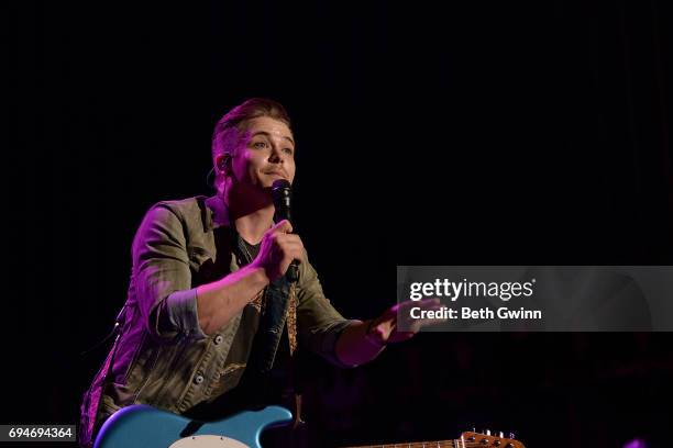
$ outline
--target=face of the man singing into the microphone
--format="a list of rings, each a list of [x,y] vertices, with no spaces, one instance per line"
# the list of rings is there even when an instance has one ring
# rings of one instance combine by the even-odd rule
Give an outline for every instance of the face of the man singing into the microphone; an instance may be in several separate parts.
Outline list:
[[[277,179],[291,183],[295,179],[293,133],[285,123],[268,116],[250,120],[231,163],[239,184],[265,189]]]

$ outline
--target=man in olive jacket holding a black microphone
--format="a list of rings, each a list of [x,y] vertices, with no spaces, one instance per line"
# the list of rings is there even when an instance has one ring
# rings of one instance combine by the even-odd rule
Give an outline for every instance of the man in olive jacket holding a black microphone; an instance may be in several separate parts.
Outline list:
[[[202,418],[297,348],[354,367],[415,334],[396,331],[399,305],[372,321],[344,318],[291,224],[274,223],[271,188],[293,182],[295,150],[283,105],[247,100],[216,126],[216,195],[159,202],[147,212],[133,240],[120,337],[84,397],[82,446],[122,406]],[[293,260],[297,281],[286,276]],[[413,305],[439,307],[432,300]]]

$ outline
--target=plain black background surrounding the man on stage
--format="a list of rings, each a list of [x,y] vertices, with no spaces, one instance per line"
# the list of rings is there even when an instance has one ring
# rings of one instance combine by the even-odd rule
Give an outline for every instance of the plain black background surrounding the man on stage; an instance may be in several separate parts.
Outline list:
[[[443,3],[3,7],[1,422],[78,422],[143,213],[212,191],[212,127],[253,96],[294,119],[297,228],[346,316],[396,265],[671,265],[671,3]],[[664,446],[672,341],[421,334],[315,361],[306,418],[317,446]]]

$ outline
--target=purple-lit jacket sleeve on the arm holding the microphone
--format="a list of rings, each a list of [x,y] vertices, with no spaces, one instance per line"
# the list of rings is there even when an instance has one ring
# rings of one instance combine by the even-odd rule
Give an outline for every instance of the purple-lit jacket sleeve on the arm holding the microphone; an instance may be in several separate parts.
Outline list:
[[[199,327],[196,289],[183,220],[168,204],[146,213],[133,240],[133,285],[141,317],[162,341],[206,337]]]

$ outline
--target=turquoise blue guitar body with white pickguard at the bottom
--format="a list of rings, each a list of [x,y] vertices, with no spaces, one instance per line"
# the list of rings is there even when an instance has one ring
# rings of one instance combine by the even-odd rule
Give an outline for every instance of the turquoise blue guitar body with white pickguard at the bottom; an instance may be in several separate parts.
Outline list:
[[[288,410],[267,406],[199,426],[189,418],[139,404],[114,413],[102,425],[93,448],[261,448],[260,435],[265,428],[291,419]],[[187,434],[180,435],[186,429]]]

